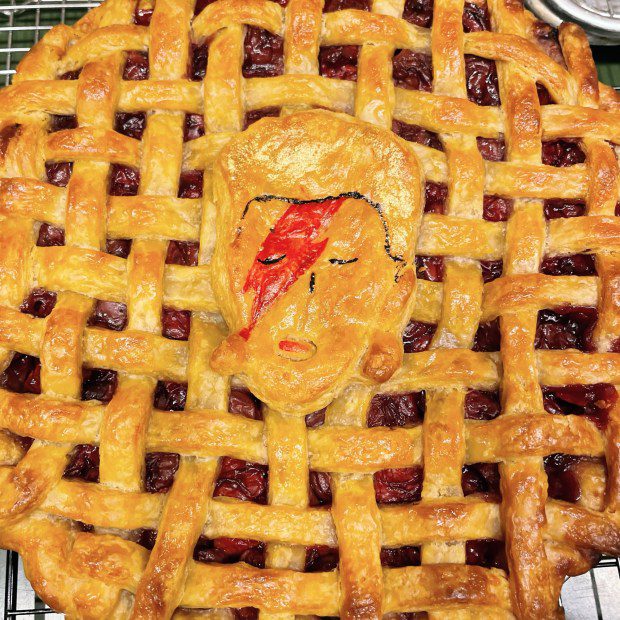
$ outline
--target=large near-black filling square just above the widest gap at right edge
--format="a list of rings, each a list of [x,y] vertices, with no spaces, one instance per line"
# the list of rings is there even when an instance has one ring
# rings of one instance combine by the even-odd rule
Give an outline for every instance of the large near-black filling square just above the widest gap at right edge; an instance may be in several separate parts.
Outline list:
[[[597,318],[596,308],[561,306],[540,310],[534,346],[537,349],[592,351],[592,332]]]

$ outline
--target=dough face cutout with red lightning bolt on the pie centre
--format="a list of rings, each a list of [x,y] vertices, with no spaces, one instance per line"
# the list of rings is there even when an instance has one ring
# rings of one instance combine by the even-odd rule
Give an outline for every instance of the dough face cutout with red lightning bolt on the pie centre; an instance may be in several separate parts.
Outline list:
[[[339,115],[266,119],[233,140],[214,170],[213,285],[230,335],[212,366],[299,414],[356,373],[388,379],[415,287],[420,193],[398,139]]]

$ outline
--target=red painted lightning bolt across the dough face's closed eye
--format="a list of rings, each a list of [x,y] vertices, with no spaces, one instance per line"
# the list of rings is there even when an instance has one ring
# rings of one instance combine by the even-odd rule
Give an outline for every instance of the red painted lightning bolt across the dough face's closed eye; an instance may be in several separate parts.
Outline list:
[[[315,239],[326,229],[346,197],[292,204],[277,221],[259,250],[243,292],[256,293],[250,324],[239,334],[246,340],[256,321],[319,258],[328,239]]]

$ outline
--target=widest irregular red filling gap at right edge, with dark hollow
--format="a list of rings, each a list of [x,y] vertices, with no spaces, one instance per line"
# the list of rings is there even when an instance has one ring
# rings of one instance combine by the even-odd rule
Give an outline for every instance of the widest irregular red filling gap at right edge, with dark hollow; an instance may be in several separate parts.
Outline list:
[[[598,428],[607,426],[609,411],[618,400],[618,392],[611,383],[592,385],[543,386],[545,410],[556,415],[583,415]]]

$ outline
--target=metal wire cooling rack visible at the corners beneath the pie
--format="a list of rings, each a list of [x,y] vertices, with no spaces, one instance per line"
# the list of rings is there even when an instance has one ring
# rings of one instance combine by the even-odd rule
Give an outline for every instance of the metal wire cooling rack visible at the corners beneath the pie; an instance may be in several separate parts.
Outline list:
[[[52,26],[73,23],[98,4],[96,0],[0,0],[0,85],[10,83],[17,63]],[[615,54],[612,58],[616,60]],[[0,558],[0,598],[6,619],[62,618],[36,596],[19,556],[12,551]],[[596,568],[569,579],[562,589],[567,620],[620,620],[619,600],[620,563],[616,558],[603,558]]]

